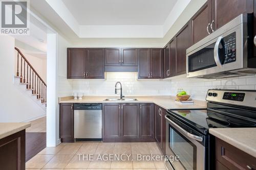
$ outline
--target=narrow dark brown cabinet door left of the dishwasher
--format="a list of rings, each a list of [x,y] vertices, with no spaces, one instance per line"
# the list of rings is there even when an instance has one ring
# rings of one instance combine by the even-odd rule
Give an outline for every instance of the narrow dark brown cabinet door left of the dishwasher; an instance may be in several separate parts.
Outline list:
[[[73,103],[60,104],[60,138],[62,142],[74,142],[74,110]]]

